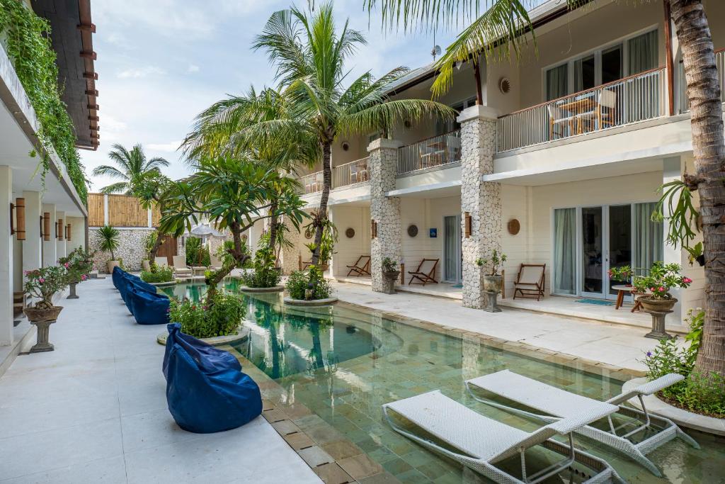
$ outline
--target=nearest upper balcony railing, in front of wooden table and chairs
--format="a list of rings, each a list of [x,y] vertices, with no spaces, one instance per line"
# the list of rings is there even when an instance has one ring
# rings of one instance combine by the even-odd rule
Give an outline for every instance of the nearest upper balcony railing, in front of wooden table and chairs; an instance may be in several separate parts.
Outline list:
[[[498,119],[497,151],[660,118],[666,97],[665,68],[658,67],[512,112]]]

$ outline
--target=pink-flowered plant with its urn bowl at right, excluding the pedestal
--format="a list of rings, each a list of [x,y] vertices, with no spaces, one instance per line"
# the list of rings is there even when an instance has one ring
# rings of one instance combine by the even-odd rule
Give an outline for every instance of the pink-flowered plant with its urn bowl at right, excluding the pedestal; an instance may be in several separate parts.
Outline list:
[[[677,300],[672,297],[670,290],[673,287],[689,287],[692,279],[681,274],[679,264],[664,264],[655,262],[647,276],[633,276],[632,285],[639,296],[639,302],[648,312],[666,313],[671,311]],[[649,294],[647,294],[649,292]]]

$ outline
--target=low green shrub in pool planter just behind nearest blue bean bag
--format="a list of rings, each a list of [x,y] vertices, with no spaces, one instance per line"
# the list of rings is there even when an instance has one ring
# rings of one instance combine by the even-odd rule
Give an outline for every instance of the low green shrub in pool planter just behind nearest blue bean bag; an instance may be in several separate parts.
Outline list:
[[[181,323],[181,331],[187,335],[206,338],[236,333],[245,309],[241,296],[217,292],[212,300],[207,297],[200,303],[187,298],[172,299],[169,317],[172,322]]]

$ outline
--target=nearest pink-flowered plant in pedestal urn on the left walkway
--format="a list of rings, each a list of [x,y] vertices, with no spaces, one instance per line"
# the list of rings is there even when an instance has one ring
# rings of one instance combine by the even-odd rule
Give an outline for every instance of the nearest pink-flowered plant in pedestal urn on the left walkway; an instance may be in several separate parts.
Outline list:
[[[25,271],[25,284],[22,289],[36,303],[23,311],[31,324],[38,327],[38,340],[30,353],[54,350],[48,342],[49,328],[58,319],[62,306],[53,305],[53,295],[68,285],[67,274],[62,266],[49,266],[34,271]]]

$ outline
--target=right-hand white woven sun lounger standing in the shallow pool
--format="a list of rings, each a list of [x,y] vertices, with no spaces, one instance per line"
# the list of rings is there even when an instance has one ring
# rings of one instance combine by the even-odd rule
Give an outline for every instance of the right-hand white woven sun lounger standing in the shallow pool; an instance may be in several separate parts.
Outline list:
[[[473,398],[476,398],[478,401],[525,417],[540,419],[544,422],[570,419],[571,417],[585,414],[589,408],[599,406],[601,403],[616,405],[618,407],[616,414],[626,417],[626,422],[623,424],[615,427],[611,415],[608,415],[606,416],[607,422],[604,429],[592,426],[594,422],[602,418],[599,417],[585,422],[586,425],[575,430],[575,432],[623,452],[631,457],[631,459],[642,464],[642,466],[647,467],[654,475],[661,477],[660,470],[650,459],[647,459],[645,454],[650,453],[655,448],[663,445],[663,443],[667,443],[676,437],[682,438],[682,440],[689,443],[692,447],[700,448],[700,446],[697,445],[697,442],[692,437],[682,432],[671,420],[651,415],[645,407],[642,395],[652,395],[682,380],[684,380],[682,375],[674,373],[667,374],[657,380],[634,387],[626,393],[620,393],[606,402],[576,395],[576,393],[552,387],[551,385],[533,380],[529,377],[524,377],[510,370],[502,370],[501,372],[467,380],[465,386]],[[543,414],[534,414],[522,409],[505,406],[501,403],[484,400],[473,393],[471,387],[486,390],[519,405],[543,412]],[[639,403],[642,404],[642,411],[622,405],[622,403],[634,397],[639,398]],[[594,415],[592,413],[592,417]],[[633,441],[635,435],[639,435],[643,431],[645,432],[644,438],[642,440],[638,438],[637,441]]]

